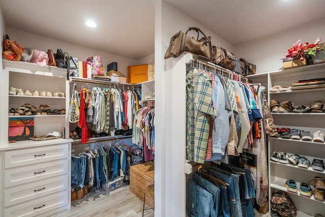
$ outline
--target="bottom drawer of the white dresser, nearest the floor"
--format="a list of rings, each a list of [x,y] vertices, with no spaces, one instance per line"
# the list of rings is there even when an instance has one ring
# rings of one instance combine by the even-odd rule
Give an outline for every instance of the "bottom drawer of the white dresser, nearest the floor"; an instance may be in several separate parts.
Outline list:
[[[6,217],[48,216],[48,212],[57,210],[68,204],[67,193],[59,194],[33,200],[10,208],[5,208]],[[54,213],[55,213],[54,212]],[[46,213],[46,214],[45,214]]]

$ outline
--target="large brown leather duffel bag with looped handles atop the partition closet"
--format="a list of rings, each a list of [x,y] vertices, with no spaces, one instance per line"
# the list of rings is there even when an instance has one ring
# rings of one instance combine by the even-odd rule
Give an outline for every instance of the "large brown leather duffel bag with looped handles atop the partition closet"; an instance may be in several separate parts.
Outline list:
[[[190,30],[195,30],[198,33],[197,39],[187,36]],[[204,37],[199,40],[200,33]],[[210,37],[207,37],[198,27],[189,27],[185,34],[180,30],[171,38],[169,47],[165,53],[165,59],[177,57],[184,52],[190,52],[210,59],[213,57]]]

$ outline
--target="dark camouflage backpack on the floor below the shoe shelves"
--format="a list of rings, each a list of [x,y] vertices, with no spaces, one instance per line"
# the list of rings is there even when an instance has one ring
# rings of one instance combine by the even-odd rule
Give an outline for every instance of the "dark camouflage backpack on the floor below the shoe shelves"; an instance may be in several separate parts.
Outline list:
[[[297,208],[295,203],[285,192],[277,192],[271,198],[271,215],[283,217],[296,217]]]

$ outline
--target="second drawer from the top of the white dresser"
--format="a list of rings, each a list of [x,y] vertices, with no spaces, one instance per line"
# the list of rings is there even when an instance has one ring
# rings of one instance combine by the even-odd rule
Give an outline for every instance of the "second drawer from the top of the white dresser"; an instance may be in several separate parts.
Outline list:
[[[68,159],[5,170],[5,188],[68,173]]]

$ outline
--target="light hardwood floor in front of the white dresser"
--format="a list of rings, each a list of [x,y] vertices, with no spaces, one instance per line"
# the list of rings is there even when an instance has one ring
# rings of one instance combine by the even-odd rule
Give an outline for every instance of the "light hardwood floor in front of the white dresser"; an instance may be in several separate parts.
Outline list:
[[[145,205],[145,209],[148,208]],[[51,215],[51,217],[87,216],[87,217],[140,217],[143,202],[124,185],[105,194],[91,194],[81,200],[74,200],[71,209]],[[144,211],[144,216],[153,217],[153,209]]]

